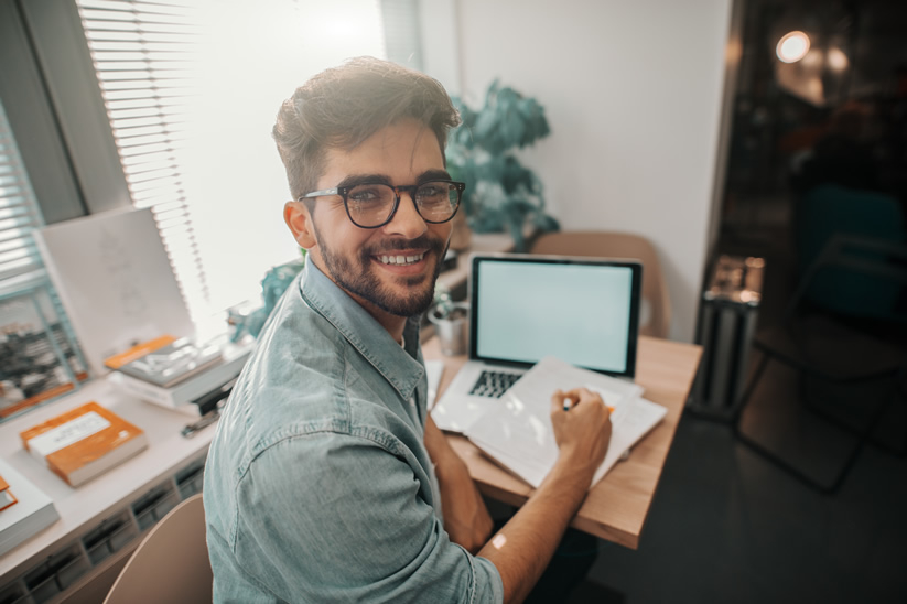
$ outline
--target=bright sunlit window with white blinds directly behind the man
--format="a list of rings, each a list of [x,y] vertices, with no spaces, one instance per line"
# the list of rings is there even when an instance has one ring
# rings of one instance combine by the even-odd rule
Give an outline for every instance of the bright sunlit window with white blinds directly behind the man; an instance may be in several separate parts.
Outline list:
[[[133,204],[203,321],[298,255],[270,131],[295,86],[385,56],[375,0],[77,0]]]

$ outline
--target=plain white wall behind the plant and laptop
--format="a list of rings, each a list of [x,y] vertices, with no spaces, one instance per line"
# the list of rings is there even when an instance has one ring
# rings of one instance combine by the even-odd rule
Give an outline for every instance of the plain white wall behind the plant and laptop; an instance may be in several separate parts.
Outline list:
[[[478,105],[500,77],[546,107],[552,133],[523,157],[551,213],[564,229],[651,239],[667,272],[671,337],[688,342],[730,12],[731,0],[456,0],[461,80],[450,88]]]

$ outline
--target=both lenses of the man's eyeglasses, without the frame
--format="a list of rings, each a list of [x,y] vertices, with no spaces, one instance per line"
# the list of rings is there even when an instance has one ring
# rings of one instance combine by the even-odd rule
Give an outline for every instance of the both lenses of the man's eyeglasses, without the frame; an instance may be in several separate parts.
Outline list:
[[[422,218],[430,223],[443,223],[456,211],[460,191],[451,183],[429,182],[415,190],[414,199]],[[349,217],[364,227],[386,223],[395,202],[396,193],[386,184],[360,184],[346,195]]]

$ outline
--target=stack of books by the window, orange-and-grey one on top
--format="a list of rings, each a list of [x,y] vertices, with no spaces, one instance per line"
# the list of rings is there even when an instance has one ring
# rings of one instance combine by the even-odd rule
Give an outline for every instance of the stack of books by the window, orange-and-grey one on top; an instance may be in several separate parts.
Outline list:
[[[142,400],[201,417],[228,392],[251,345],[162,336],[105,360],[110,381]],[[219,397],[219,398],[218,398]]]

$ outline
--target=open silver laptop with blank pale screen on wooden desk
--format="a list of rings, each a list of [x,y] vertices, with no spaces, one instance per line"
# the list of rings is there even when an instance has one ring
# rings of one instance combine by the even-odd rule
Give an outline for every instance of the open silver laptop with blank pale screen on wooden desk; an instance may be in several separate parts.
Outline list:
[[[469,359],[432,408],[439,428],[464,432],[546,356],[633,380],[641,263],[522,254],[471,262]]]

